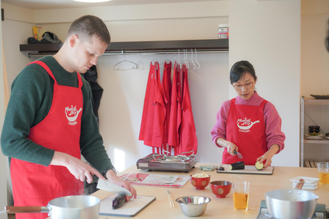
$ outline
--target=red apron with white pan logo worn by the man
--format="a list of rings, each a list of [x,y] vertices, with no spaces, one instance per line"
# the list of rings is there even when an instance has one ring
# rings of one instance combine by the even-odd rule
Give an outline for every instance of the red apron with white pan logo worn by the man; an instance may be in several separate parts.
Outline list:
[[[41,61],[40,64],[53,78],[53,102],[49,114],[30,129],[28,138],[48,149],[81,158],[80,127],[83,107],[82,79],[77,74],[78,88],[58,85],[53,73]],[[30,64],[32,64],[30,63]],[[84,194],[84,184],[75,179],[64,166],[42,166],[11,159],[10,173],[15,206],[46,206],[53,198]],[[42,214],[16,214],[16,219],[47,218]]]

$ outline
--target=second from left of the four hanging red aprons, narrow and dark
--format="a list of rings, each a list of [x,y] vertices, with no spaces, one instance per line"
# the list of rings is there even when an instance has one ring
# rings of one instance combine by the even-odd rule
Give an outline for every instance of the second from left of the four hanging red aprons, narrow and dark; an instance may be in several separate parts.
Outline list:
[[[171,151],[167,148],[169,119],[170,119],[170,100],[171,100],[171,62],[164,62],[163,75],[162,75],[162,90],[164,94],[164,104],[166,107],[166,118],[163,126],[163,147],[166,151]]]

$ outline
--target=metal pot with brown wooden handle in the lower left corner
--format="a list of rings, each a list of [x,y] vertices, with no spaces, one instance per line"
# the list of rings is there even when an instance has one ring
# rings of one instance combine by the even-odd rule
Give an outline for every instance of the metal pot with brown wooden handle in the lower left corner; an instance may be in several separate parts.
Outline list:
[[[97,219],[101,201],[95,196],[64,196],[41,206],[6,206],[5,213],[48,213],[51,219]]]

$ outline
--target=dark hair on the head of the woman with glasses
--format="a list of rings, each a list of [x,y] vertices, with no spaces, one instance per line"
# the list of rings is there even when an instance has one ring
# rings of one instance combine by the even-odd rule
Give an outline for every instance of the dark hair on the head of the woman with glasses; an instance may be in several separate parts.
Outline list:
[[[254,77],[255,81],[257,80],[254,66],[252,66],[250,62],[248,61],[236,62],[230,70],[231,84],[233,84],[236,81],[239,81],[241,77],[245,75],[245,73],[249,73],[250,75],[252,75],[252,77]]]

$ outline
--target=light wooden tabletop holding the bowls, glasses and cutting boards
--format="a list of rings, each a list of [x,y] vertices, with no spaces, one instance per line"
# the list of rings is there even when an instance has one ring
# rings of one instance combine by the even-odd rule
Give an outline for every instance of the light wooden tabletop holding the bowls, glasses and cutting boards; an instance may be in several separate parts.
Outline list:
[[[136,166],[127,168],[118,175],[124,173],[145,172],[154,174],[167,174],[167,175],[191,175],[197,172],[203,172],[199,166],[204,164],[197,164],[190,172],[147,172],[147,170],[138,170]],[[226,181],[249,181],[249,206],[247,211],[234,210],[232,190],[226,198],[216,198],[212,194],[210,186],[208,185],[205,190],[195,190],[193,185],[188,181],[182,188],[169,188],[175,207],[169,205],[167,196],[167,188],[149,187],[149,186],[134,186],[137,194],[143,196],[156,196],[156,201],[147,206],[143,211],[138,213],[134,218],[189,218],[182,214],[180,206],[175,203],[175,199],[181,196],[208,196],[211,198],[208,203],[206,212],[202,218],[252,218],[258,216],[260,209],[260,201],[265,200],[265,192],[271,190],[291,189],[293,183],[289,180],[293,177],[315,177],[318,178],[317,168],[297,168],[297,167],[274,167],[273,175],[241,175],[241,174],[223,174],[217,173],[216,170],[206,172],[210,175],[210,181],[226,180]],[[317,190],[308,190],[319,196],[317,203],[329,205],[329,185],[318,185]],[[106,198],[110,192],[99,190],[92,194],[100,199]],[[99,219],[105,218],[119,218],[116,216],[99,216]]]

